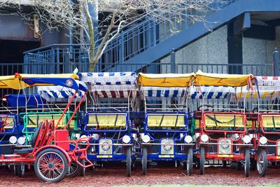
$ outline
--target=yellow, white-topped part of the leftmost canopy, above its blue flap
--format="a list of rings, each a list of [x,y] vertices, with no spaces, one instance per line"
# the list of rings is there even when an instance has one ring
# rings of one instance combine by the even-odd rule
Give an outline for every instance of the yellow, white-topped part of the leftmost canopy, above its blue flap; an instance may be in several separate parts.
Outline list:
[[[14,76],[0,76],[0,89],[12,88],[15,90],[21,90],[31,87],[31,85],[21,81],[21,79],[25,77],[74,78],[78,80],[76,74],[15,74]]]

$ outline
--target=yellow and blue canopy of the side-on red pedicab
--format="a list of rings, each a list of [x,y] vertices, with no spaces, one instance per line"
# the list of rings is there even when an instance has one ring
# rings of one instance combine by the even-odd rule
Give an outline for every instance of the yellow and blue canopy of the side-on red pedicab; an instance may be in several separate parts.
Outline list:
[[[86,92],[86,85],[76,81],[74,78],[78,79],[78,76],[75,74],[15,74],[14,76],[0,76],[0,89],[22,90],[34,86],[60,85]]]

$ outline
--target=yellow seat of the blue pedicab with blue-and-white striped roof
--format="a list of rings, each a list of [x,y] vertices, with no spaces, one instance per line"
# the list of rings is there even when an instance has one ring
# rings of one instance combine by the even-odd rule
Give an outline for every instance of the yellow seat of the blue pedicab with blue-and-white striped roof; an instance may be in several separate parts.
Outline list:
[[[125,127],[126,124],[126,113],[88,114],[87,127]]]

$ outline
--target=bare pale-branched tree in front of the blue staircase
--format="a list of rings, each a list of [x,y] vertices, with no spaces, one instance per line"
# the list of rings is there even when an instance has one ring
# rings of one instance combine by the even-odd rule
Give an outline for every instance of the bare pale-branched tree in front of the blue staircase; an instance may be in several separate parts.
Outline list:
[[[2,3],[0,0],[0,8],[14,8],[27,23],[34,19],[34,15],[38,16],[38,20],[47,28],[39,32],[38,37],[54,29],[71,31],[70,37],[88,51],[89,71],[93,71],[106,46],[128,23],[146,16],[155,22],[167,20],[171,24],[174,20],[183,22],[186,19],[206,22],[203,12],[216,11],[225,3],[226,0],[31,0],[31,11],[27,11],[27,5],[22,0],[6,0]],[[92,7],[104,13],[102,20],[92,17]],[[192,11],[201,14],[192,14]],[[94,27],[94,22],[98,23],[98,27]],[[179,32],[173,26],[170,29]]]

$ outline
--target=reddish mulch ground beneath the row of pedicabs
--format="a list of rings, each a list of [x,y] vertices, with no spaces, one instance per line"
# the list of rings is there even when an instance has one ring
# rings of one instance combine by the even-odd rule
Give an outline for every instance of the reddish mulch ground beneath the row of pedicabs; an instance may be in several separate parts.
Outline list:
[[[251,171],[248,178],[244,177],[243,170],[230,167],[207,167],[205,174],[200,175],[198,169],[194,169],[192,176],[186,176],[181,167],[154,167],[148,168],[147,176],[142,176],[141,167],[132,172],[132,177],[125,176],[125,167],[114,166],[97,168],[86,171],[86,176],[65,178],[60,183],[43,183],[38,180],[33,171],[26,176],[18,178],[14,176],[13,169],[0,169],[0,186],[126,186],[126,185],[156,185],[156,184],[198,184],[198,185],[223,185],[223,186],[262,186],[280,184],[280,168],[269,168],[267,176],[260,177],[255,171]]]

